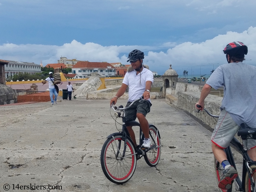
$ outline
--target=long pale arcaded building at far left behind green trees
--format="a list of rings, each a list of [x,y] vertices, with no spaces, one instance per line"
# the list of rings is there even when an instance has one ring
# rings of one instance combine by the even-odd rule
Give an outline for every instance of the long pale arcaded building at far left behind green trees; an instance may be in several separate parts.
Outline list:
[[[8,61],[8,64],[4,65],[4,70],[5,78],[8,78],[19,72],[27,72],[30,74],[41,73],[41,66],[35,63]]]

